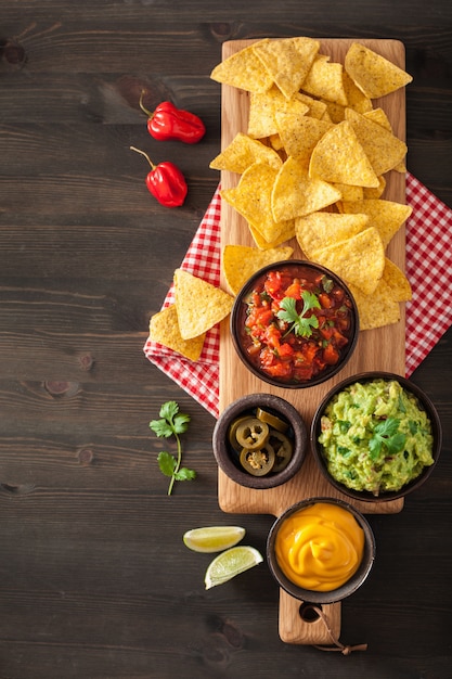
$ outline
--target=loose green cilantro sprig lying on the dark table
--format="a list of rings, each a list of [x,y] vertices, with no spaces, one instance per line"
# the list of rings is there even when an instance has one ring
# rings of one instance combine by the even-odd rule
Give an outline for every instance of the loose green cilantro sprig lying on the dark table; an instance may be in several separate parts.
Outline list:
[[[157,456],[158,466],[165,476],[170,477],[168,495],[171,495],[176,481],[192,481],[196,477],[194,470],[189,470],[182,464],[182,443],[180,434],[189,428],[190,415],[179,412],[179,406],[176,401],[167,401],[160,408],[158,413],[160,420],[152,420],[150,427],[159,438],[169,438],[175,436],[178,446],[178,454],[175,457],[166,450]]]

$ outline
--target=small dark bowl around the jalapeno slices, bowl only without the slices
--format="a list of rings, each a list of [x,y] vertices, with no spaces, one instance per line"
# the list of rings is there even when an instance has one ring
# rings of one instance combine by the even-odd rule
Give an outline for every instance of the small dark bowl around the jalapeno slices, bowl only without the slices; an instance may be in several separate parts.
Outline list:
[[[284,435],[293,449],[282,471],[270,471],[264,476],[255,476],[242,466],[240,451],[230,440],[233,423],[243,417],[254,417],[258,408],[286,423]],[[305,461],[308,443],[308,431],[299,412],[292,403],[272,394],[249,394],[233,401],[219,417],[212,435],[214,454],[219,467],[241,486],[257,489],[274,488],[293,478]]]

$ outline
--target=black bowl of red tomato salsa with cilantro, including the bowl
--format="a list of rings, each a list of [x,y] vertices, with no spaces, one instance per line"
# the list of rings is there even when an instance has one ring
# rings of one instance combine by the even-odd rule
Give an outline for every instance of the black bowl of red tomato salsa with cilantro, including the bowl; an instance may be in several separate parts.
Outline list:
[[[288,388],[314,386],[337,374],[359,334],[347,285],[328,269],[296,259],[257,271],[237,294],[230,323],[248,370]]]

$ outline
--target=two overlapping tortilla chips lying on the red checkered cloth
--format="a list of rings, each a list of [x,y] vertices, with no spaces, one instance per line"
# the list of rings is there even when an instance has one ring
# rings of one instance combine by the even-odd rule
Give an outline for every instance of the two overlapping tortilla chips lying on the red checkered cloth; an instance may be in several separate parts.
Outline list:
[[[183,269],[173,280],[175,304],[151,317],[150,340],[197,361],[207,331],[230,313],[234,298]]]

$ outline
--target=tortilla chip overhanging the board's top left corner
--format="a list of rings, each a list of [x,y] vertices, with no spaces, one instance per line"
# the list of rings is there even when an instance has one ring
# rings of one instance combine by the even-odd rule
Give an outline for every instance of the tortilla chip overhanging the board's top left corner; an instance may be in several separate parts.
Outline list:
[[[267,38],[262,40],[267,41]],[[270,89],[273,85],[272,77],[256,55],[254,48],[255,46],[250,44],[224,59],[210,73],[210,78],[248,92],[264,92]]]

